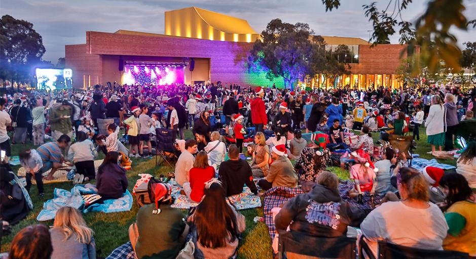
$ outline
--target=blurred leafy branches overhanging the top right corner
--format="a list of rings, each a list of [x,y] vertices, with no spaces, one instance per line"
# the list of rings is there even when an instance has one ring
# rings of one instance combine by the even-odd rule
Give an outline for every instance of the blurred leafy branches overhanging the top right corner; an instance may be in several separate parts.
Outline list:
[[[326,11],[338,9],[341,0],[321,0]],[[384,10],[377,8],[377,3],[363,5],[365,17],[369,18],[374,28],[370,38],[372,45],[390,43],[389,36],[399,27],[400,44],[408,44],[414,52],[420,47],[422,67],[435,73],[440,65],[440,57],[445,66],[453,71],[460,71],[461,50],[457,38],[450,33],[452,27],[467,30],[476,27],[476,20],[467,21],[463,15],[463,0],[430,0],[426,11],[417,18],[415,24],[401,18],[413,0],[387,0]],[[417,68],[418,69],[418,68]],[[421,72],[421,71],[416,71]]]

